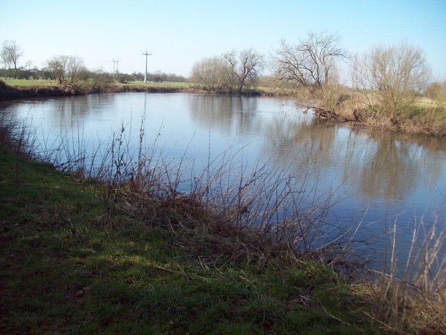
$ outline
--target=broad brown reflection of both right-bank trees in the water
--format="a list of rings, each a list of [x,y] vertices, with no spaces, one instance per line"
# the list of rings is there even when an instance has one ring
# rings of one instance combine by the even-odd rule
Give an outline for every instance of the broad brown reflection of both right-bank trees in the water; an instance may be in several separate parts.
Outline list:
[[[300,172],[342,176],[353,187],[374,198],[401,200],[429,172],[431,183],[442,174],[444,156],[435,138],[419,138],[382,131],[357,131],[320,119],[289,120],[277,117],[268,124],[264,149],[276,163],[293,158]],[[342,135],[341,135],[342,134]],[[346,135],[346,136],[344,136]],[[303,172],[302,172],[303,173]]]

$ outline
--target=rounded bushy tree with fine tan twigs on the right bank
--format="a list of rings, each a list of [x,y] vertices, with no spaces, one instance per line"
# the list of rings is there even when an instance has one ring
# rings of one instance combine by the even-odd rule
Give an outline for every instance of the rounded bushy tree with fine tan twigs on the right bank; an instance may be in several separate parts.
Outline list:
[[[367,105],[376,110],[371,101],[376,94],[378,111],[390,117],[413,107],[431,78],[422,50],[406,43],[373,47],[356,61],[355,70]]]

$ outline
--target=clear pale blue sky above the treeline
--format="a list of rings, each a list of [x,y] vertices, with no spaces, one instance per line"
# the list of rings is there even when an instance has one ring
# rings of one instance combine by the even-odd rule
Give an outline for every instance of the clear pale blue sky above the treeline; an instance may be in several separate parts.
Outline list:
[[[401,41],[420,47],[434,79],[446,78],[446,0],[0,0],[0,42],[15,40],[41,68],[77,56],[90,70],[160,70],[185,77],[203,57],[253,48],[266,57],[281,40],[337,33],[350,54]]]

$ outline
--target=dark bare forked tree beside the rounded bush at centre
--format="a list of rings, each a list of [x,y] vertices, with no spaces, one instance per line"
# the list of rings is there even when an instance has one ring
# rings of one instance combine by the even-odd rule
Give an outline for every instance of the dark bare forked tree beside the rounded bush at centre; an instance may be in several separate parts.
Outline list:
[[[259,70],[262,68],[263,57],[252,49],[236,52],[228,52],[223,58],[229,63],[229,73],[226,73],[226,82],[231,86],[236,86],[237,92],[242,93],[245,82],[249,80],[255,83]]]

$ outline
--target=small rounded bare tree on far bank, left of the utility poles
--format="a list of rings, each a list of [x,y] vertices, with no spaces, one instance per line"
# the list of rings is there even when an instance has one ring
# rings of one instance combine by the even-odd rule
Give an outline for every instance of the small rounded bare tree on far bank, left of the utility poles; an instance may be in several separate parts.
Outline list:
[[[56,56],[47,61],[46,69],[59,84],[75,84],[86,73],[84,62],[75,56]]]

